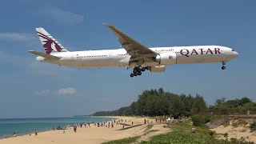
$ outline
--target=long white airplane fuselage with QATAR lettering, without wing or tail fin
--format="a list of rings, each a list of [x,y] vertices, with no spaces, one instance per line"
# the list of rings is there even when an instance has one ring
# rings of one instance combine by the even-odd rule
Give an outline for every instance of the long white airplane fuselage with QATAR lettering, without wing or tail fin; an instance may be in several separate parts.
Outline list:
[[[162,63],[161,58],[155,62],[143,62],[142,66],[162,66],[174,64],[190,64],[205,62],[227,62],[238,56],[238,53],[225,46],[175,46],[150,48],[157,54],[170,55],[170,61]],[[137,64],[130,63],[130,55],[126,50],[86,50],[65,53],[54,53],[59,60],[37,57],[40,62],[50,62],[60,66],[74,66],[79,68],[100,67],[134,67]],[[168,60],[168,59],[167,59]]]

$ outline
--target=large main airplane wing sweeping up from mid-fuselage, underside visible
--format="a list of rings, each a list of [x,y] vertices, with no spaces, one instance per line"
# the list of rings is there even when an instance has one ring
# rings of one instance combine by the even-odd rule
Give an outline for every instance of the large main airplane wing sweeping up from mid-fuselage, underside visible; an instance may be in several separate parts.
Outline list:
[[[122,31],[118,30],[114,26],[106,23],[103,23],[103,25],[107,26],[108,28],[110,28],[111,31],[114,32],[114,34],[118,37],[118,41],[121,43],[122,47],[126,49],[127,53],[130,54],[132,58],[135,58],[137,56],[144,58],[153,58],[157,55],[153,50],[150,50],[146,46],[143,46],[139,42],[135,41],[133,38],[130,38],[128,35],[123,34]]]

